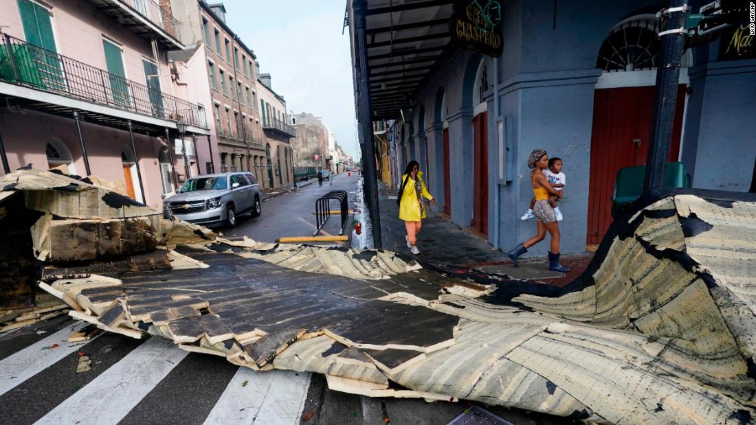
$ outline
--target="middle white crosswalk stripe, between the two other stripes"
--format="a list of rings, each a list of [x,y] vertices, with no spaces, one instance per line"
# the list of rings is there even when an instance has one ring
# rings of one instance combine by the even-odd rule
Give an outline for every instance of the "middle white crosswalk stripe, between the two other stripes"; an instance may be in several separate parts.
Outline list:
[[[118,423],[189,354],[151,337],[36,423]]]

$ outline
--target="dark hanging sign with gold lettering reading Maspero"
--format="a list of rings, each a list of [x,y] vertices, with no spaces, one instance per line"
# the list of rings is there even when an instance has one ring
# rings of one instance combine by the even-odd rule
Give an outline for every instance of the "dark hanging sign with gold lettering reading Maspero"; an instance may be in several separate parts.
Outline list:
[[[451,40],[488,56],[503,50],[500,0],[458,0],[449,20]]]

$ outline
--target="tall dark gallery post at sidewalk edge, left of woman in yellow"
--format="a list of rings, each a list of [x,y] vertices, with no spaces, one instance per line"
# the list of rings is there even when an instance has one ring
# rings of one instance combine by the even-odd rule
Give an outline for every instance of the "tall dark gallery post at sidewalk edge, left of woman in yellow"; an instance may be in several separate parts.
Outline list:
[[[352,2],[355,12],[355,37],[357,38],[358,93],[360,109],[358,121],[362,127],[362,169],[364,175],[364,192],[373,229],[373,248],[383,248],[380,228],[380,209],[378,207],[378,180],[376,178],[376,161],[373,152],[373,121],[370,113],[370,71],[367,68],[367,11],[366,0]]]

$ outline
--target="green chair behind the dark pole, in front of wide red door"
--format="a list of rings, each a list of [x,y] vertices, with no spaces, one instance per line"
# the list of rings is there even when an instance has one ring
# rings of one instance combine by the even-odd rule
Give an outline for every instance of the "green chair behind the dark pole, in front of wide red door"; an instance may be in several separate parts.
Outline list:
[[[621,208],[638,199],[643,193],[643,180],[646,178],[646,165],[620,168],[615,179],[612,195],[612,217],[616,217]],[[665,186],[690,187],[690,175],[682,162],[670,162],[665,172]]]

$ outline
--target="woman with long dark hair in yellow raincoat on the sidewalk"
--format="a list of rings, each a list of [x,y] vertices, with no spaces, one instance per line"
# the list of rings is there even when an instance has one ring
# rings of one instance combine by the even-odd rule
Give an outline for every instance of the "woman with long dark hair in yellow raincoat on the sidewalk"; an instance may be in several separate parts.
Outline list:
[[[401,186],[399,186],[396,202],[399,205],[399,218],[404,220],[404,226],[407,228],[407,235],[404,236],[407,248],[410,248],[412,254],[415,255],[420,254],[417,249],[417,233],[420,232],[422,220],[426,217],[423,198],[428,199],[434,207],[437,206],[423,182],[420,164],[417,161],[410,161],[404,175],[401,176]]]

